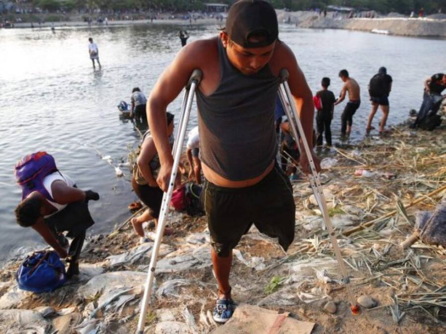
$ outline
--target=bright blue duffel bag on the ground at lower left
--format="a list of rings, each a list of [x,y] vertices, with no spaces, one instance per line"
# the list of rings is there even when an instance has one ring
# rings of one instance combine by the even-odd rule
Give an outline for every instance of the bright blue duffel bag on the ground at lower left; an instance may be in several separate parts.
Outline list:
[[[51,292],[65,284],[65,266],[55,251],[34,252],[17,269],[15,280],[22,290]]]

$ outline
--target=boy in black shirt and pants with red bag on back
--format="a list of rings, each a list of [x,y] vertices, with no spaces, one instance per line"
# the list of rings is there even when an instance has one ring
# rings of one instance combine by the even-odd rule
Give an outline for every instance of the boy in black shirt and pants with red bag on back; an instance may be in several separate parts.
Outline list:
[[[330,78],[322,78],[321,82],[322,90],[316,93],[316,96],[320,97],[322,108],[318,110],[316,114],[316,125],[318,128],[318,137],[316,139],[316,144],[318,146],[322,145],[322,135],[325,131],[325,142],[327,146],[331,146],[331,129],[330,124],[333,119],[334,102],[336,98],[333,92],[328,90],[330,86]]]

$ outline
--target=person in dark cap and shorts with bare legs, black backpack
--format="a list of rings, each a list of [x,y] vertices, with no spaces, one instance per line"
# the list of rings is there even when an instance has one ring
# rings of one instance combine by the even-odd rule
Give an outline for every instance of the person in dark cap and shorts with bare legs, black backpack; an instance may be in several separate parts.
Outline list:
[[[375,116],[378,106],[382,110],[382,119],[380,122],[379,133],[384,132],[384,126],[387,122],[389,114],[389,101],[388,96],[392,90],[392,77],[387,74],[385,67],[380,67],[378,74],[375,74],[369,83],[370,100],[372,101],[372,111],[369,115],[367,122],[366,133],[369,134],[371,130],[375,129],[372,126],[373,117]]]

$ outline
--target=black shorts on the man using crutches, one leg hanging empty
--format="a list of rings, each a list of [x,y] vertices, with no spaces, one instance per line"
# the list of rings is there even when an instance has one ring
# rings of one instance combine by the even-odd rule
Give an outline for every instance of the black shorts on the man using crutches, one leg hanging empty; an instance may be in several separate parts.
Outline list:
[[[296,205],[293,188],[277,164],[258,184],[223,188],[205,180],[203,207],[218,256],[226,257],[252,224],[287,250],[294,239]]]

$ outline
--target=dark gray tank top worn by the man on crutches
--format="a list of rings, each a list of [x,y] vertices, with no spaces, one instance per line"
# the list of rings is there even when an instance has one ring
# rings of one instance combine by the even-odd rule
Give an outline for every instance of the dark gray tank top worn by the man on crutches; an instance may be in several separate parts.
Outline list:
[[[198,89],[201,160],[218,175],[243,181],[261,175],[277,154],[274,107],[279,87],[267,64],[254,75],[232,66],[218,40],[220,83],[209,96]]]

